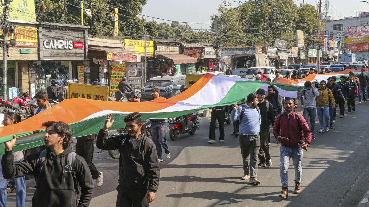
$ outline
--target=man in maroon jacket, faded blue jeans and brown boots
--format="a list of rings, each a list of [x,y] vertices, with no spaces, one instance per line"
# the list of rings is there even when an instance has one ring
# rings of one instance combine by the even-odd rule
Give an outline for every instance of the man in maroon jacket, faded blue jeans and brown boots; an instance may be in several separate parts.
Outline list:
[[[288,197],[288,165],[290,158],[295,169],[294,194],[301,192],[301,159],[302,150],[307,148],[311,142],[311,131],[304,117],[294,110],[294,101],[286,98],[284,101],[284,113],[278,115],[274,122],[273,134],[280,141],[280,180],[282,182],[281,198]],[[303,133],[302,133],[303,132]],[[302,140],[304,144],[300,144]]]

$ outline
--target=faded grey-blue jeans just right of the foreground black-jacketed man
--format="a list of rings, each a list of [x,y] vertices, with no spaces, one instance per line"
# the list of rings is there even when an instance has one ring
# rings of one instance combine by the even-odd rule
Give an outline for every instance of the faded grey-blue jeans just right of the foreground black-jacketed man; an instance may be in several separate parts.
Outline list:
[[[151,135],[152,141],[156,146],[158,159],[163,159],[162,147],[164,148],[165,154],[170,153],[168,143],[166,142],[166,121],[151,122]]]

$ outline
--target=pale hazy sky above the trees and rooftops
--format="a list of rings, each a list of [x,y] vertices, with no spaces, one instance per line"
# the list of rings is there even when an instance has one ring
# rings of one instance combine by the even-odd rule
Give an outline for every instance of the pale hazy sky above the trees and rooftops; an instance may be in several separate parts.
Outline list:
[[[238,5],[238,0],[227,0],[232,6]],[[235,1],[235,2],[234,2]],[[316,0],[304,0],[306,4],[315,6]],[[328,1],[328,0],[327,0]],[[294,0],[296,4],[302,4],[303,0]],[[325,0],[323,0],[324,6]],[[335,20],[344,16],[357,16],[359,11],[369,11],[369,4],[359,2],[359,0],[329,0],[328,16]],[[210,22],[210,15],[217,14],[219,4],[222,0],[148,0],[143,7],[142,14],[175,20],[182,22]],[[323,10],[323,8],[322,8]],[[200,17],[202,16],[202,17]],[[145,17],[147,21],[150,17]],[[156,22],[168,22],[154,19]],[[168,24],[171,24],[169,21]],[[193,29],[207,29],[210,24],[189,24]]]

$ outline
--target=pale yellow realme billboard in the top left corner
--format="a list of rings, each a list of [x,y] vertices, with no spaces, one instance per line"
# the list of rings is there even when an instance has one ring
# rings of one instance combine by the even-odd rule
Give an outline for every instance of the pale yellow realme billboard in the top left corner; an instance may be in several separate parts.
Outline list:
[[[36,21],[35,1],[13,0],[10,4],[10,20]]]

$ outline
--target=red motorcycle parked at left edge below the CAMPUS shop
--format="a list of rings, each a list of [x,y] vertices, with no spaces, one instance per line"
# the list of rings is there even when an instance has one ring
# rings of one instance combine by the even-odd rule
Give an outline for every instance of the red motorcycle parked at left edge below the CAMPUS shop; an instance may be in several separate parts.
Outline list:
[[[15,97],[10,101],[0,99],[0,113],[6,113],[8,111],[15,111],[18,113],[22,113],[23,110],[27,112],[27,115],[31,115],[30,110],[28,109],[27,105],[28,102],[31,101],[31,97],[28,95],[28,91],[23,93],[20,97]]]

